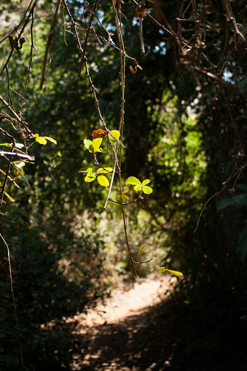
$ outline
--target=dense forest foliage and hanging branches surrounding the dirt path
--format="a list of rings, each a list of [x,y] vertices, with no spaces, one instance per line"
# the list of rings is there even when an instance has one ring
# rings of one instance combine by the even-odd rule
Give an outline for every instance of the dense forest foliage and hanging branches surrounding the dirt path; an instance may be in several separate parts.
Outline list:
[[[181,335],[192,364],[214,339],[222,369],[229,349],[242,369],[246,11],[1,1],[2,370],[21,369],[9,262],[25,370],[69,368],[84,340],[64,318],[153,268],[183,272],[177,311],[208,329]]]

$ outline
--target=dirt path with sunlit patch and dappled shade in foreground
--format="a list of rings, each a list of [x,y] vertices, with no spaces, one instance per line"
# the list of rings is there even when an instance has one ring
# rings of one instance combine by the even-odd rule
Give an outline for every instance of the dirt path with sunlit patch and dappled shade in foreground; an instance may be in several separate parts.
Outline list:
[[[74,358],[72,370],[165,370],[174,345],[166,339],[167,328],[161,328],[161,302],[175,282],[176,277],[168,275],[138,279],[127,292],[117,289],[104,304],[70,319],[88,345]],[[164,344],[168,353],[161,357]]]

